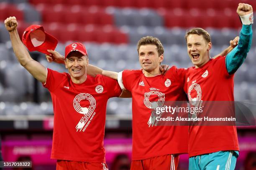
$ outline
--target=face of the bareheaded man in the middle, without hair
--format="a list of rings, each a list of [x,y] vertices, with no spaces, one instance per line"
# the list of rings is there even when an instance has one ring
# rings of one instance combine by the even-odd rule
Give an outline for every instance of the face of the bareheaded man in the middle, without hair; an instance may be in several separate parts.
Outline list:
[[[152,75],[159,74],[160,62],[163,61],[164,55],[159,56],[156,45],[141,45],[138,53],[143,70]]]

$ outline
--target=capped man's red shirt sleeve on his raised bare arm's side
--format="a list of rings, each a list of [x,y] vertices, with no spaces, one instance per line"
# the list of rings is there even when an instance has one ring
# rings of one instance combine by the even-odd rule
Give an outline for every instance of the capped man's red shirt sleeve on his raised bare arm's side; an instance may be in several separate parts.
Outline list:
[[[47,68],[46,82],[43,84],[43,86],[46,87],[50,92],[53,92],[57,87],[59,87],[65,77],[66,76],[64,73]]]

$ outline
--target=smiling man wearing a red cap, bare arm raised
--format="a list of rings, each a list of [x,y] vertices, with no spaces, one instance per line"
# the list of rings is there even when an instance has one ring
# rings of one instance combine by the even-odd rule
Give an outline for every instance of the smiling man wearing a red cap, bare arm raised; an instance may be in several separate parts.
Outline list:
[[[106,105],[110,97],[120,96],[118,82],[102,75],[87,75],[87,51],[78,42],[65,49],[69,74],[46,69],[31,58],[20,41],[17,26],[15,17],[5,20],[18,61],[51,93],[54,107],[51,158],[57,159],[56,169],[108,170],[103,148]]]

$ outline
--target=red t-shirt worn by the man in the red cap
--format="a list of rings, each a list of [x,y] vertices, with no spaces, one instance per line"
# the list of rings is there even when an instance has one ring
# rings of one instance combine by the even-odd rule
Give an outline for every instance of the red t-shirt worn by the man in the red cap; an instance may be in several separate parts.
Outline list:
[[[85,82],[75,84],[68,73],[47,69],[44,87],[54,108],[51,158],[105,163],[106,105],[110,97],[121,94],[118,82],[87,75]]]

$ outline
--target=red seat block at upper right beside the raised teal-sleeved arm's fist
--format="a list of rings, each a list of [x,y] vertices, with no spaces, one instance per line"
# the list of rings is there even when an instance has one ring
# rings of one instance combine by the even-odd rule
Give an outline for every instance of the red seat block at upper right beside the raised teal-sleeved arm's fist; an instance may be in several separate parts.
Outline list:
[[[175,9],[168,12],[159,12],[164,17],[166,27],[201,27],[201,28],[239,28],[241,22],[236,10],[216,11],[213,9],[200,11],[196,9]]]

